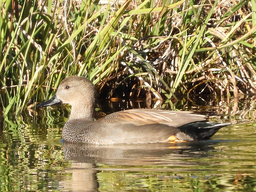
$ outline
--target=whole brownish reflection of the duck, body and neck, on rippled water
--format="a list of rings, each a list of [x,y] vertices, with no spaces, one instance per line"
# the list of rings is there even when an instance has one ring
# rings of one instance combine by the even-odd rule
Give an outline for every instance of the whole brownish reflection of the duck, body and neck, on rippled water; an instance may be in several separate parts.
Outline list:
[[[127,166],[163,165],[171,168],[195,166],[198,162],[187,161],[190,158],[209,156],[217,140],[188,143],[120,144],[93,145],[86,143],[63,143],[65,160],[71,161],[66,170],[72,174],[70,179],[60,183],[62,191],[95,191],[99,187],[97,164]],[[186,160],[187,159],[187,160]],[[199,162],[200,163],[200,162]],[[175,168],[175,169],[176,169]],[[116,170],[116,169],[115,169]],[[143,168],[144,170],[144,168]],[[159,170],[158,170],[159,171]]]

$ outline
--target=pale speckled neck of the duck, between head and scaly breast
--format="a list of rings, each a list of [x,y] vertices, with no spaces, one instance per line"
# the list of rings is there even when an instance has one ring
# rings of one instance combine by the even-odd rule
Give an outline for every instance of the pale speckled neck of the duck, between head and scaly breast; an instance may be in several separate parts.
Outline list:
[[[94,120],[94,104],[93,105],[81,105],[72,106],[69,120],[82,119],[83,121]]]

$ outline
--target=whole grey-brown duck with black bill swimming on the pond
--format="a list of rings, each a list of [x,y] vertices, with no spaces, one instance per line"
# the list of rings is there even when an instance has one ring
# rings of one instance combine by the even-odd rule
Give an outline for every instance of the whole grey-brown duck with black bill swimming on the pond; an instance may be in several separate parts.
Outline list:
[[[93,144],[157,143],[209,139],[230,123],[207,121],[207,116],[192,111],[131,109],[115,112],[94,121],[96,90],[85,77],[64,79],[56,94],[37,107],[57,103],[71,105],[62,138],[69,142]]]

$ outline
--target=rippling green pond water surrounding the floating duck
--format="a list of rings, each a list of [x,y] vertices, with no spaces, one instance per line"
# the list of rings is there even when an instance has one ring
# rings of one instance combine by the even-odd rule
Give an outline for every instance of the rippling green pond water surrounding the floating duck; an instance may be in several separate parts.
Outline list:
[[[105,103],[98,114],[145,106]],[[216,111],[223,115],[213,120],[233,125],[201,142],[71,145],[60,142],[70,108],[2,117],[0,191],[256,190],[255,98],[183,100],[172,108]]]

